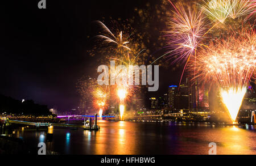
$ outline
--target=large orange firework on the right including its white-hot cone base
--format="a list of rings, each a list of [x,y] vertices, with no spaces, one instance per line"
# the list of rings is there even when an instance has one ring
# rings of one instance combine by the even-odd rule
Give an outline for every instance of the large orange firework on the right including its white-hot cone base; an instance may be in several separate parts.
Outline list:
[[[211,78],[220,88],[223,103],[230,117],[236,120],[243,96],[256,65],[256,35],[253,29],[242,29],[229,34],[222,40],[212,41],[209,46],[197,54],[196,78],[205,82]],[[236,103],[236,104],[234,104]]]

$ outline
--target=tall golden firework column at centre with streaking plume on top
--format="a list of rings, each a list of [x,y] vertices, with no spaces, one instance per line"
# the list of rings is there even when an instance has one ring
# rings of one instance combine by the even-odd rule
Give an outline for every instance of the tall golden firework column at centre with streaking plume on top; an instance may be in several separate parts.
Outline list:
[[[135,40],[130,39],[131,35],[133,34],[130,33],[133,32],[131,31],[132,28],[130,27],[130,24],[122,24],[120,26],[121,28],[115,28],[115,30],[113,30],[113,33],[102,22],[97,21],[97,23],[100,24],[102,28],[101,34],[104,34],[96,36],[96,38],[100,39],[102,43],[101,48],[97,47],[97,50],[100,50],[100,54],[104,54],[105,57],[102,59],[105,59],[105,62],[106,59],[110,59],[111,61],[114,60],[115,63],[118,64],[117,69],[115,69],[115,65],[112,66],[110,62],[110,84],[112,84],[112,78],[114,78],[114,83],[112,84],[112,87],[110,89],[112,90],[112,92],[116,92],[114,96],[117,96],[119,104],[123,105],[124,107],[125,101],[129,99],[129,97],[133,95],[135,91],[135,87],[133,86],[133,84],[129,83],[130,78],[133,78],[135,72],[134,70],[130,71],[128,69],[130,69],[130,66],[133,66],[137,64],[138,61],[142,60],[138,57],[141,58],[139,54],[141,54],[144,49],[139,52],[139,54],[135,54],[138,52],[138,50],[141,50],[141,48],[143,48],[143,44],[138,44],[138,42],[136,42],[136,39],[141,39],[142,36],[136,33],[135,35],[137,36],[137,38],[135,38]],[[115,25],[118,25],[118,23],[115,23]],[[127,35],[128,33],[130,35]],[[130,41],[128,41],[128,39],[130,39]],[[123,68],[119,69],[119,66],[122,66]],[[136,79],[135,82],[136,81],[138,80]],[[122,117],[123,112],[124,109],[120,109],[120,117]]]

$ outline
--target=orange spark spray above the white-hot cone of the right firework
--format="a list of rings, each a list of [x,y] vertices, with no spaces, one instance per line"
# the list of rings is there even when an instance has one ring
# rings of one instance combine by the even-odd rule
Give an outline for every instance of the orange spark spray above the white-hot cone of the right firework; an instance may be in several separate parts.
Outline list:
[[[197,54],[197,71],[207,70],[220,87],[246,85],[255,68],[255,31],[230,35],[226,40],[210,42]]]

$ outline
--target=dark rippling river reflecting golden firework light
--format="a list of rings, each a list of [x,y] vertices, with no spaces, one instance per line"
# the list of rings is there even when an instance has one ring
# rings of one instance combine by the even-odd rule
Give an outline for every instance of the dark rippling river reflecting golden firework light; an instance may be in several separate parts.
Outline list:
[[[54,127],[51,142],[47,131],[16,130],[30,148],[46,142],[47,150],[59,154],[139,155],[203,154],[209,143],[217,144],[217,154],[256,154],[253,125],[216,126],[200,123],[98,121],[100,131]]]

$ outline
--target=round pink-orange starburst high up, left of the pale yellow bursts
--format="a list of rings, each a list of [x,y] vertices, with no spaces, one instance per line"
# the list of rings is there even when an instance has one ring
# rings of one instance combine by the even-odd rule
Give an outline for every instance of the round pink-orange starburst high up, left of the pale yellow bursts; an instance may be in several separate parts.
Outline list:
[[[185,62],[191,55],[195,55],[208,25],[202,10],[197,10],[196,5],[184,6],[182,3],[177,3],[174,7],[174,17],[167,23],[170,26],[170,31],[167,31],[170,40],[167,44],[168,49],[171,49],[167,54],[178,56],[174,62]]]

